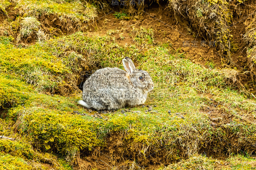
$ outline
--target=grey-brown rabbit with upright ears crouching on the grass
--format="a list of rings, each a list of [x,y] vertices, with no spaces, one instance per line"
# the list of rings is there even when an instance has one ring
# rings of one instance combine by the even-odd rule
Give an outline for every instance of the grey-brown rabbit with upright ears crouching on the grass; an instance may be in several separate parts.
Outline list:
[[[147,71],[135,68],[129,57],[123,59],[124,70],[103,68],[95,71],[83,86],[83,100],[88,109],[116,110],[144,104],[154,84]]]

